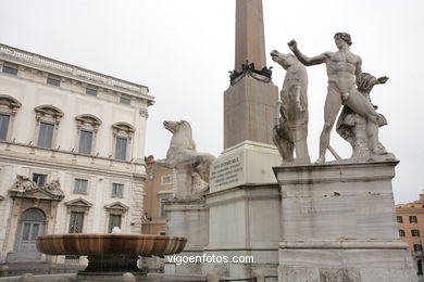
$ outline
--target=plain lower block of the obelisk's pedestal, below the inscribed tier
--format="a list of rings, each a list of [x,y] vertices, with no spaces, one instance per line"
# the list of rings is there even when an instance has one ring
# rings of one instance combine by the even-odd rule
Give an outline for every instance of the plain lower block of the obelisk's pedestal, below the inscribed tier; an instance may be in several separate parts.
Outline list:
[[[227,264],[204,264],[203,273],[250,278],[253,271],[275,275],[278,267],[279,192],[275,184],[240,185],[207,195],[209,245],[204,254]],[[245,256],[242,264],[233,259]]]

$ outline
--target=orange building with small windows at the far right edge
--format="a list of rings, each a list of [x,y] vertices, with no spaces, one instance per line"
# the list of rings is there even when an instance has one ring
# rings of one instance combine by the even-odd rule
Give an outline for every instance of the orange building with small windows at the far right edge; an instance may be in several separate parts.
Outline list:
[[[423,273],[424,245],[424,191],[420,200],[396,206],[396,216],[400,240],[408,243],[408,248],[415,260],[419,274]]]

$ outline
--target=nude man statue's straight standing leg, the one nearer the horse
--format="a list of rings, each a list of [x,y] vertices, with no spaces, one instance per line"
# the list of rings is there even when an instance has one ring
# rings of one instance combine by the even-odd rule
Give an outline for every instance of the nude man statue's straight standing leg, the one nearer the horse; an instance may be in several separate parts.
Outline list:
[[[328,84],[327,98],[324,105],[324,127],[320,137],[320,156],[316,164],[325,162],[325,152],[329,144],[329,134],[341,106],[341,93],[335,84]]]

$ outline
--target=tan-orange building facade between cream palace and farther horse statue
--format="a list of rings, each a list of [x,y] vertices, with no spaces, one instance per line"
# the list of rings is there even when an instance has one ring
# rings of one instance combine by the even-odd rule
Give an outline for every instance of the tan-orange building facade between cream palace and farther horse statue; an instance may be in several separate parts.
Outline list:
[[[167,231],[165,203],[175,194],[174,170],[160,165],[149,156],[146,158],[144,234],[162,234]]]

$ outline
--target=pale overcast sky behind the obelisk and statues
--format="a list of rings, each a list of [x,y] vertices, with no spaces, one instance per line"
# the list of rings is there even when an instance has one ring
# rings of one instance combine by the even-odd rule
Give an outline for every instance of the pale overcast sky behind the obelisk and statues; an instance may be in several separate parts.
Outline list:
[[[396,203],[416,200],[424,189],[424,1],[263,0],[267,54],[287,53],[298,41],[307,55],[334,51],[333,36],[348,31],[363,72],[388,76],[372,92],[389,125],[381,141],[400,164]],[[171,133],[163,120],[188,120],[198,151],[223,149],[223,92],[234,69],[235,0],[0,0],[0,42],[148,86],[146,154],[164,158]],[[285,72],[274,66],[279,88]],[[308,67],[309,148],[317,157],[326,95],[325,66]],[[350,145],[332,133],[344,157]]]

